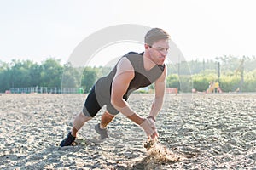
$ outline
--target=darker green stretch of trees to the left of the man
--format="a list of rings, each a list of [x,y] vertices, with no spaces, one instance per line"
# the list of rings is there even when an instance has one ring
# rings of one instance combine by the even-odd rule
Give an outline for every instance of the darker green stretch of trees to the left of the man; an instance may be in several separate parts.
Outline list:
[[[110,69],[110,68],[109,68]],[[109,70],[103,67],[73,68],[70,64],[61,65],[61,59],[46,59],[40,65],[32,60],[0,61],[0,93],[10,88],[84,88],[88,92]],[[105,72],[104,72],[105,71]]]

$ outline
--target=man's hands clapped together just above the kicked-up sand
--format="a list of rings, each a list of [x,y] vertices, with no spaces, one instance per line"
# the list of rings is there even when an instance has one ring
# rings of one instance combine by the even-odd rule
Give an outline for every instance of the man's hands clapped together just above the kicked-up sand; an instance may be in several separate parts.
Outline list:
[[[140,127],[143,128],[148,136],[148,139],[157,139],[158,133],[155,127],[155,122],[151,117],[146,118],[145,121],[140,124]]]

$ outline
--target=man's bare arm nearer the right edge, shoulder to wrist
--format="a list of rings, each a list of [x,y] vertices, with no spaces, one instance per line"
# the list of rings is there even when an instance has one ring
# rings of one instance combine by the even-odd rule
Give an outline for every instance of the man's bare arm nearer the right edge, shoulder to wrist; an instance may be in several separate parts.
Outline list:
[[[166,74],[167,68],[165,66],[165,70],[163,71],[162,75],[154,82],[154,101],[151,107],[151,111],[149,112],[149,117],[152,117],[154,121],[164,103],[166,91]]]

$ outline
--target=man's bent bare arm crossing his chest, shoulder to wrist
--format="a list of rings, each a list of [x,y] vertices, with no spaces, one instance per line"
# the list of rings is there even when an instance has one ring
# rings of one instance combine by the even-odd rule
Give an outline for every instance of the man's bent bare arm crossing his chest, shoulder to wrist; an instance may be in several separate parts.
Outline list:
[[[131,62],[126,58],[121,59],[117,65],[115,77],[113,77],[111,103],[118,111],[131,119],[131,121],[140,125],[145,119],[132,111],[128,103],[123,99],[134,76],[134,69]]]

